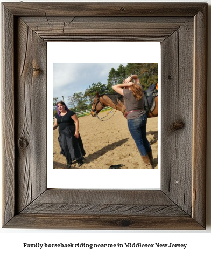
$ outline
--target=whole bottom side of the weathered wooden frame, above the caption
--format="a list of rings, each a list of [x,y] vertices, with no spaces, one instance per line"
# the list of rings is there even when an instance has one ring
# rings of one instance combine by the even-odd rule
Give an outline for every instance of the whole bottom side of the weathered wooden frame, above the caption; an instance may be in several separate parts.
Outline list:
[[[45,191],[6,228],[201,230],[191,216],[162,191]]]

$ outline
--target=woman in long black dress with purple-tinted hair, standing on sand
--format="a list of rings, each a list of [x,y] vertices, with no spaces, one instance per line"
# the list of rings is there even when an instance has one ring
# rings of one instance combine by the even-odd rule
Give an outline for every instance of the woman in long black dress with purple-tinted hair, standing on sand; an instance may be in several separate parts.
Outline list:
[[[58,126],[60,153],[66,157],[67,167],[70,169],[74,160],[78,162],[78,167],[80,167],[83,164],[85,150],[79,134],[79,119],[62,101],[57,102],[57,114],[55,114],[53,130],[57,129]]]

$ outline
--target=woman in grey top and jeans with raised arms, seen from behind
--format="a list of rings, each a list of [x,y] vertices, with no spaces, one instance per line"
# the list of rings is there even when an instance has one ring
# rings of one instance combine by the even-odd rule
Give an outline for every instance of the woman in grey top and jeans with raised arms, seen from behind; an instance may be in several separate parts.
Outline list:
[[[134,83],[131,81],[134,80]],[[124,96],[126,111],[128,112],[128,128],[146,169],[153,169],[153,156],[149,141],[146,137],[147,114],[143,109],[143,89],[137,75],[131,75],[126,78],[123,84],[112,86],[117,93]]]

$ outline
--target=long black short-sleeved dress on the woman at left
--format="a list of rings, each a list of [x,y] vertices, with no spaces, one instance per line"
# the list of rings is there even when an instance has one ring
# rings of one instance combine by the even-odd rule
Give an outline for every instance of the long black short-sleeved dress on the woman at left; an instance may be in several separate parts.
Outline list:
[[[66,157],[67,164],[72,164],[74,160],[81,162],[86,154],[80,134],[78,139],[74,136],[75,122],[71,118],[74,114],[72,110],[67,111],[64,116],[55,114],[59,125],[58,141],[61,148],[60,154]]]

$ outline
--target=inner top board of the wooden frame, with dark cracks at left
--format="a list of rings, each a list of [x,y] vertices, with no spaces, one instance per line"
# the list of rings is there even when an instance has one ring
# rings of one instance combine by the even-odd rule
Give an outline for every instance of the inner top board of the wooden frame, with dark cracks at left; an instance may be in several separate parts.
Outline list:
[[[22,17],[46,42],[161,42],[192,18],[149,17]]]

